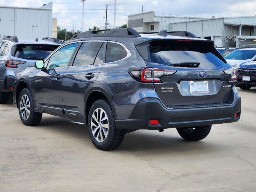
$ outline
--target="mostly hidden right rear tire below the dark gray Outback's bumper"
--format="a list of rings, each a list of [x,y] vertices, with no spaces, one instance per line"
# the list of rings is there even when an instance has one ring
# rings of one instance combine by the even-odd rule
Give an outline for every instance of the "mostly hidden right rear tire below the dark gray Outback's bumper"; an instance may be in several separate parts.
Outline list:
[[[188,141],[199,141],[210,133],[212,126],[197,126],[197,127],[185,127],[185,128],[177,128],[178,133],[182,138]]]

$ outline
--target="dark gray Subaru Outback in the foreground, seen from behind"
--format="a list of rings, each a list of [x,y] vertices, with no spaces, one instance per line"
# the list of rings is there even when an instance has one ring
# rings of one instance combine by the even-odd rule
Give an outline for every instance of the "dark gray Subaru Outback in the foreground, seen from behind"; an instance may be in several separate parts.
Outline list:
[[[128,28],[75,35],[17,77],[21,121],[34,126],[48,113],[88,124],[101,150],[118,148],[134,130],[177,128],[197,141],[212,124],[238,121],[237,68],[212,41],[169,34]]]

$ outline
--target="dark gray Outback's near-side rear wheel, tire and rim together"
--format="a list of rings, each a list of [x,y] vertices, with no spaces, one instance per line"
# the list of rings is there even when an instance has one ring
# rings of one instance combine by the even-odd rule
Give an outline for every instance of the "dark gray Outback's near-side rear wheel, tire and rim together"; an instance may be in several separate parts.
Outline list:
[[[88,131],[92,143],[100,150],[118,148],[125,134],[124,130],[116,128],[111,106],[105,99],[92,104],[88,114]]]

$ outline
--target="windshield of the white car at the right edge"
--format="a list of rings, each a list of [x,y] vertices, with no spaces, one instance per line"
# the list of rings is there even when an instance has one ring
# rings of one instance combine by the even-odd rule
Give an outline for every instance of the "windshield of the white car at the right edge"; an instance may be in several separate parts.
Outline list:
[[[235,50],[225,56],[225,59],[246,60],[252,59],[256,55],[256,50]]]

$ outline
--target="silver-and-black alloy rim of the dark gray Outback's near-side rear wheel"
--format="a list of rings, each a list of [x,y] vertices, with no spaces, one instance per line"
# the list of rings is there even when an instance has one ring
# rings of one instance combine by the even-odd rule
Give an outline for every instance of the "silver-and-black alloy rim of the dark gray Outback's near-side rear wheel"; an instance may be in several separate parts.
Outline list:
[[[92,113],[91,129],[96,141],[104,142],[106,140],[109,131],[109,122],[104,109],[96,108]]]

